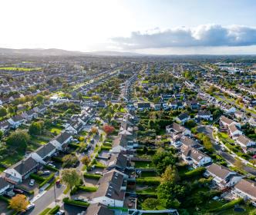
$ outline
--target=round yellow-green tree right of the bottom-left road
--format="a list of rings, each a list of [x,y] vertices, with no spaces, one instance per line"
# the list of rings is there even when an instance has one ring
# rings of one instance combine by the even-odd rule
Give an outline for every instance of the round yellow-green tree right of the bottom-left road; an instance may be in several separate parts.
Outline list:
[[[80,184],[80,174],[76,169],[63,169],[61,171],[61,179],[64,184],[68,185],[70,189]]]

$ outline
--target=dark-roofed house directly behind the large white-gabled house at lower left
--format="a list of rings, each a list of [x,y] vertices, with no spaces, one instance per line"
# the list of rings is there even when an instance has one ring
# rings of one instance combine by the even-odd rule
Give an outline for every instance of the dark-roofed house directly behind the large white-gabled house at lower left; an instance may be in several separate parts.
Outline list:
[[[39,147],[36,151],[32,152],[30,154],[30,157],[32,157],[36,162],[39,162],[40,164],[46,164],[47,159],[49,157],[52,157],[52,154],[56,152],[56,147],[52,145],[51,143],[45,144],[42,147]]]

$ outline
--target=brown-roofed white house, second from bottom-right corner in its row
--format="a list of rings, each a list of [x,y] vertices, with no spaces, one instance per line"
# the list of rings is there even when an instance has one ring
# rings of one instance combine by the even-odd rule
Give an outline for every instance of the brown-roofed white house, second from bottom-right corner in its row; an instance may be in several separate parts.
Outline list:
[[[220,188],[233,187],[242,179],[240,174],[218,164],[211,164],[207,167],[204,175],[213,177],[214,184]]]

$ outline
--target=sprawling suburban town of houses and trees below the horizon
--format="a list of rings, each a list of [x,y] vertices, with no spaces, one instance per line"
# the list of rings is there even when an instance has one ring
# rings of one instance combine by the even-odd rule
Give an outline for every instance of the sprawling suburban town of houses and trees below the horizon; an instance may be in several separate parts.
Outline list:
[[[256,58],[5,55],[1,214],[255,214]]]

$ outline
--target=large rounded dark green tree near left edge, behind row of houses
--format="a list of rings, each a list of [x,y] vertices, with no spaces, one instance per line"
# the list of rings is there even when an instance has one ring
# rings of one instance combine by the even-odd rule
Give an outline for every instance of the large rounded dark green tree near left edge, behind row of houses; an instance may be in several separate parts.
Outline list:
[[[29,144],[30,136],[25,131],[15,131],[8,137],[6,144],[17,148],[18,150],[25,151]]]

